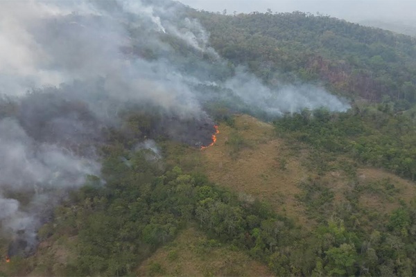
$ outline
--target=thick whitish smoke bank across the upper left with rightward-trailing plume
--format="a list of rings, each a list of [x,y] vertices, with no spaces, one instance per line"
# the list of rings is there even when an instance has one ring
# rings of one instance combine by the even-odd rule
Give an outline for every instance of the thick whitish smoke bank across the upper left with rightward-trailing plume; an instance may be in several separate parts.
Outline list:
[[[259,107],[265,105],[276,114],[304,107],[324,106],[336,110],[348,107],[336,98],[327,97],[326,91],[309,86],[302,87],[303,92],[297,87],[286,87],[284,91],[289,91],[292,97],[283,93],[284,98],[277,101],[281,105],[268,108],[269,94],[279,98],[282,91],[264,87],[253,75],[239,73],[229,80],[202,77],[198,69],[205,69],[204,73],[221,70],[225,61],[209,46],[209,34],[196,19],[177,15],[178,3],[31,1],[27,6],[10,2],[2,5],[5,8],[0,12],[4,22],[0,29],[1,48],[6,51],[0,54],[0,84],[3,93],[8,95],[21,95],[27,89],[59,86],[73,80],[94,82],[103,78],[105,91],[100,93],[109,98],[121,102],[154,102],[173,113],[180,111],[182,116],[202,113],[200,99],[196,98],[190,82],[212,82],[227,87],[245,102],[257,102]],[[175,57],[181,59],[184,55],[178,55],[166,43],[171,37],[182,40],[211,60],[200,58],[189,61],[192,64],[180,64]],[[126,55],[121,49],[133,49],[133,55]],[[134,55],[137,49],[151,49],[158,58],[149,61],[140,53]],[[183,69],[184,66],[188,68]],[[312,92],[305,93],[308,89]],[[293,105],[291,101],[296,99],[304,106]]]

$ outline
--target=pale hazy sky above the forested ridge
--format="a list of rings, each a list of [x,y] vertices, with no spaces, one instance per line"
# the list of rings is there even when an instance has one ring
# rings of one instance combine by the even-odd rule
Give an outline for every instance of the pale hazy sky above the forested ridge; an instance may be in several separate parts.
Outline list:
[[[193,8],[236,12],[292,12],[300,10],[315,14],[320,12],[347,21],[386,20],[415,22],[414,0],[180,0]]]

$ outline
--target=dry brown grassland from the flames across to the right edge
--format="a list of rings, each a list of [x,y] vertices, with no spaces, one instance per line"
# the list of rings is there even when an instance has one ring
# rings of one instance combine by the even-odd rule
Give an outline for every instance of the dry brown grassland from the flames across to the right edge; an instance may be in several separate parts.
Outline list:
[[[319,179],[334,193],[333,206],[346,202],[346,195],[354,190],[354,184],[370,186],[358,195],[359,206],[370,212],[385,215],[400,206],[401,200],[409,203],[416,196],[413,182],[377,168],[358,168],[356,177],[342,170],[345,157],[337,157],[332,169],[318,176],[310,168],[308,148],[293,150],[288,141],[276,139],[272,125],[262,123],[251,116],[236,116],[234,127],[220,125],[217,142],[202,151],[204,169],[212,181],[239,193],[259,197],[272,204],[275,211],[292,217],[295,222],[308,226],[314,220],[304,211],[304,204],[297,199],[302,193],[298,186],[308,177]],[[245,147],[233,154],[228,141],[239,134]],[[284,159],[286,169],[281,168]],[[309,164],[309,166],[308,166]],[[385,192],[382,184],[389,181],[395,191]]]

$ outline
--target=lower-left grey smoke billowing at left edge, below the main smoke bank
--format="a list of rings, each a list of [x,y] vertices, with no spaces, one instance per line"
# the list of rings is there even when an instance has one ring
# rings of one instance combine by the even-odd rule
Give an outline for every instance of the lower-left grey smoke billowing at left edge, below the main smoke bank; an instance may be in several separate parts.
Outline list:
[[[19,233],[31,246],[50,207],[100,169],[96,161],[35,141],[10,118],[0,120],[0,157],[1,226],[6,233]]]

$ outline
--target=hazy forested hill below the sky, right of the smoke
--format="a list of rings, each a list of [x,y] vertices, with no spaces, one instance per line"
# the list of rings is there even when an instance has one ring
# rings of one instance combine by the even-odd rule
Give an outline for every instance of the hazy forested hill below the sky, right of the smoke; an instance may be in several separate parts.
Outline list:
[[[416,39],[303,12],[220,15],[191,11],[216,51],[272,84],[294,75],[367,100],[415,102]]]

